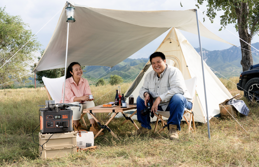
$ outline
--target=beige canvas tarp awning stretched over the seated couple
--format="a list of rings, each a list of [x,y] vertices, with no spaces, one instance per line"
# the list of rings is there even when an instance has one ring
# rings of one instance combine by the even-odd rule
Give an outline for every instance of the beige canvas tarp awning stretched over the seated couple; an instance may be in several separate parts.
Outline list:
[[[74,3],[73,3],[74,4]],[[76,21],[69,24],[67,64],[113,67],[175,27],[198,34],[195,9],[126,11],[75,5]],[[51,40],[33,72],[65,67],[67,16],[64,8]],[[200,22],[201,36],[233,45]]]

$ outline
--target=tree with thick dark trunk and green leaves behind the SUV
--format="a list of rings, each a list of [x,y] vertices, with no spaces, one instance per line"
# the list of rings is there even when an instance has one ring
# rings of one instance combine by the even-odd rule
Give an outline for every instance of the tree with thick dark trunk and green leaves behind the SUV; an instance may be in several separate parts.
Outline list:
[[[208,17],[214,19],[217,15],[216,12],[223,10],[224,14],[220,16],[221,25],[225,27],[227,24],[234,23],[239,38],[251,45],[253,36],[259,31],[259,0],[198,0],[196,6],[199,8],[199,5],[202,5],[204,1],[208,2],[206,12]],[[211,20],[211,22],[213,21]],[[241,39],[241,48],[244,48],[241,49],[241,65],[243,71],[246,71],[253,65],[253,57],[251,46]]]

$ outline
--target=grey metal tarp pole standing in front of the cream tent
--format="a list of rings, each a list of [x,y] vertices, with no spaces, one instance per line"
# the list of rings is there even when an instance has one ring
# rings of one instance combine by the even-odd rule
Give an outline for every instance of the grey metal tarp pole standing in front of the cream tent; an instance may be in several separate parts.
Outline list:
[[[199,35],[199,43],[200,43],[200,57],[201,57],[201,67],[202,67],[202,76],[203,76],[203,85],[204,85],[204,94],[205,94],[205,104],[206,104],[206,113],[207,113],[207,125],[208,125],[208,139],[210,140],[210,131],[209,131],[209,119],[208,119],[208,105],[207,105],[207,96],[206,96],[206,87],[205,87],[205,78],[204,78],[204,69],[203,69],[203,55],[202,55],[202,47],[200,41],[200,26],[198,19],[198,11],[196,9],[196,19],[197,19],[197,27],[198,27],[198,35]]]

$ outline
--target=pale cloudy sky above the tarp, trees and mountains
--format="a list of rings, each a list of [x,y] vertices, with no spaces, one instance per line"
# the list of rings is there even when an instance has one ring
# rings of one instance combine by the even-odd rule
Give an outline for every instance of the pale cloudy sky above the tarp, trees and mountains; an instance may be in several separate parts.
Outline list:
[[[183,7],[180,6],[180,0],[76,0],[74,2],[90,7],[114,10],[188,10],[196,8],[195,0],[182,0],[181,3]],[[23,22],[29,24],[33,34],[37,33],[38,30],[40,30],[56,14],[56,16],[51,19],[51,21],[47,23],[47,25],[43,27],[36,36],[38,41],[42,44],[41,49],[45,49],[59,20],[59,16],[61,14],[61,11],[59,12],[59,10],[63,9],[65,3],[66,1],[63,0],[8,0],[0,1],[0,7],[5,6],[6,12],[10,15],[20,15]],[[207,10],[206,3],[200,6],[199,10]],[[222,14],[222,11],[218,12],[217,17],[214,20],[219,23],[220,16]],[[199,19],[201,22],[203,17],[204,15],[199,13]],[[203,25],[222,39],[234,45],[240,46],[239,38],[229,33],[227,30],[218,31],[221,26],[216,23],[211,23],[208,18],[205,18]],[[233,24],[226,26],[226,28],[238,36],[238,33],[236,32]],[[147,58],[157,49],[168,31],[133,54],[130,58]],[[185,31],[181,32],[193,47],[199,47],[198,35]],[[252,43],[256,42],[259,42],[258,35],[254,36],[252,40]],[[224,50],[231,47],[229,44],[214,41],[205,37],[201,37],[201,43],[202,48],[207,50]],[[40,55],[39,52],[36,53],[36,55]]]

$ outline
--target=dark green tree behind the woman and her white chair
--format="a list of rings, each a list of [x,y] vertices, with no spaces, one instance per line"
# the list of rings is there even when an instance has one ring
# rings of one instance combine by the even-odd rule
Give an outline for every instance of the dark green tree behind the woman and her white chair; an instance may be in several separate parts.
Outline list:
[[[40,52],[41,56],[38,57],[38,61],[42,57],[44,51],[45,51],[45,49]],[[34,70],[36,65],[37,65],[37,63],[35,63],[33,66],[31,66],[31,70],[32,71]],[[82,66],[82,69],[84,69],[84,68],[85,68],[85,66]],[[85,70],[83,70],[83,72],[85,72]],[[60,77],[63,77],[64,74],[65,74],[65,68],[58,68],[58,69],[52,69],[52,70],[38,71],[38,72],[36,72],[36,81],[38,81],[41,84],[44,84],[43,81],[42,81],[42,77],[60,78]]]

